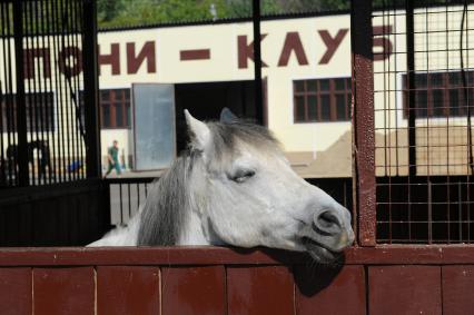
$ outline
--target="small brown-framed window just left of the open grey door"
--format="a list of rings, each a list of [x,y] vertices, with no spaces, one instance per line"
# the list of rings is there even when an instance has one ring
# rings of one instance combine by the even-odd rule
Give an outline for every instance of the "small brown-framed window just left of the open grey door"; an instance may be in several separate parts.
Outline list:
[[[100,90],[102,128],[130,128],[130,89]]]

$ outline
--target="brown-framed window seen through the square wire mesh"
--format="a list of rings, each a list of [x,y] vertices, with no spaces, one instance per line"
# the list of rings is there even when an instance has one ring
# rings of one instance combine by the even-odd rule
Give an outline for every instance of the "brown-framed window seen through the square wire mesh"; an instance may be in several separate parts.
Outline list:
[[[474,102],[474,71],[466,71],[466,86],[471,104]],[[408,117],[407,77],[403,77],[404,118]],[[416,118],[465,117],[467,106],[464,99],[461,71],[415,73]]]

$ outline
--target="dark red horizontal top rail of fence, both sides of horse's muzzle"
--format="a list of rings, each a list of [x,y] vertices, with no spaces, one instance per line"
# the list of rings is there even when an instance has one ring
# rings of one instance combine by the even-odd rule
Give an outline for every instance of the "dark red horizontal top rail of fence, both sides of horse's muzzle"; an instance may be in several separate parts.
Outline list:
[[[0,230],[1,233],[1,230]],[[474,265],[474,246],[350,247],[346,265]],[[117,266],[117,265],[293,265],[304,264],[303,253],[278,249],[191,247],[47,247],[2,248],[0,267],[10,266]]]

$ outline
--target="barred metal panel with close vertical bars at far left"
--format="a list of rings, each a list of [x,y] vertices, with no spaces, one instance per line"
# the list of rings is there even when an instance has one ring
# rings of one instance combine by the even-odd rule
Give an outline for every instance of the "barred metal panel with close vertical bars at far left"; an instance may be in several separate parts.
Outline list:
[[[0,186],[86,177],[86,2],[0,2]]]

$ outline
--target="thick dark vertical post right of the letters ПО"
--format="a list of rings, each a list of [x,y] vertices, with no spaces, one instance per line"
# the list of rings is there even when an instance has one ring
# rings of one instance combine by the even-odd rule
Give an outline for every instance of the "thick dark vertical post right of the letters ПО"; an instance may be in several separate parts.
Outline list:
[[[82,6],[82,62],[87,65],[87,67],[83,67],[83,109],[86,117],[85,129],[87,130],[86,165],[87,177],[95,178],[100,177],[96,1],[83,1]]]

